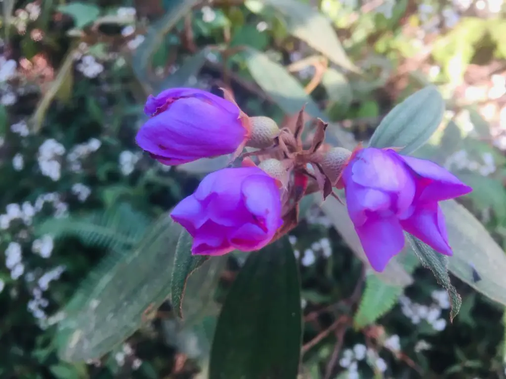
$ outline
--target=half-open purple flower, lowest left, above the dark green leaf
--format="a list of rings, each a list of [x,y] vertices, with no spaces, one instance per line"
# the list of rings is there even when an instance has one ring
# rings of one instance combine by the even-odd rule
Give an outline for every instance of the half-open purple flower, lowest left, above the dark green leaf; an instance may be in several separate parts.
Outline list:
[[[199,255],[261,249],[283,223],[276,179],[256,166],[208,174],[171,216],[193,236],[192,254]]]

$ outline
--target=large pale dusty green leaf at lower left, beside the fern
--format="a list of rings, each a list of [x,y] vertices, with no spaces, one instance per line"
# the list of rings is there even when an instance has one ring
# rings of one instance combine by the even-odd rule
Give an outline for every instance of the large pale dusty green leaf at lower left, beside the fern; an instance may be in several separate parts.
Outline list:
[[[182,227],[167,214],[129,254],[113,256],[90,274],[64,309],[56,341],[66,361],[100,358],[130,337],[170,295]]]

